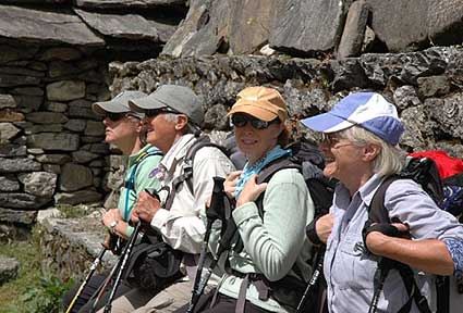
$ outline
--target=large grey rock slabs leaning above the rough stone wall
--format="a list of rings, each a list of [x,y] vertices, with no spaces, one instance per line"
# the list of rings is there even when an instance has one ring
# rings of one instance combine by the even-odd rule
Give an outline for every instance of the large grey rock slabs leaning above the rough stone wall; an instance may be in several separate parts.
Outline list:
[[[163,54],[259,53],[269,43],[277,52],[292,57],[338,50],[345,58],[370,51],[406,52],[459,45],[463,36],[461,0],[190,2],[187,16]],[[363,42],[365,36],[368,42]]]

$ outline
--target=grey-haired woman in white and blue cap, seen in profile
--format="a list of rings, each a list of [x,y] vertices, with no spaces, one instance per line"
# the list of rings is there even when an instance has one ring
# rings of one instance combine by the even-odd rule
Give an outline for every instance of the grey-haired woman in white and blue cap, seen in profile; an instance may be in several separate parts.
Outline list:
[[[375,92],[351,93],[328,113],[302,123],[322,133],[324,174],[340,180],[330,214],[314,223],[318,239],[327,243],[324,271],[329,311],[368,312],[378,290],[374,281],[379,256],[419,271],[422,295],[434,303],[429,301],[429,274],[451,275],[461,272],[463,265],[463,227],[453,216],[439,210],[418,184],[398,179],[387,188],[383,205],[389,217],[400,223],[387,227],[395,227],[395,233],[407,231],[413,240],[374,228],[366,229],[365,238],[362,234],[376,190],[386,177],[400,173],[405,165],[405,154],[398,147],[404,127],[395,107]],[[394,270],[387,276],[374,310],[404,312],[400,310],[410,299],[413,303],[406,312],[423,312]]]

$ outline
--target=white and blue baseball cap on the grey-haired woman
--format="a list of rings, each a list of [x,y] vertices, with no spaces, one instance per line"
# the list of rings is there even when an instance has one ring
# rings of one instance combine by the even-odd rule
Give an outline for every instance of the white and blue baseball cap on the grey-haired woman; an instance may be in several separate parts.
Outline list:
[[[404,130],[395,107],[376,92],[351,93],[331,111],[301,122],[321,133],[336,133],[358,125],[391,145],[399,143]]]

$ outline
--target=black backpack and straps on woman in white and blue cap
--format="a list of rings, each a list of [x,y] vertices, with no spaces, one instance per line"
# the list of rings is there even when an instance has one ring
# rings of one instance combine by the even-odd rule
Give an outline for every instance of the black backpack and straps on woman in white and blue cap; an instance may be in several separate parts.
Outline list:
[[[422,186],[422,188],[429,195],[429,197],[436,202],[439,208],[442,208],[444,203],[444,193],[442,180],[439,177],[439,172],[436,163],[431,159],[409,159],[406,167],[398,175],[392,175],[386,178],[378,190],[375,192],[371,204],[368,211],[368,221],[365,224],[364,231],[373,223],[386,223],[390,224],[389,212],[385,208],[385,195],[388,187],[398,179],[413,179]],[[450,205],[450,204],[449,204]],[[400,221],[397,221],[400,222]],[[389,260],[387,258],[380,258],[378,263],[378,275],[375,275],[376,279],[381,279],[382,283],[386,280],[388,272],[391,268],[399,271],[402,280],[405,285],[405,289],[409,292],[409,301],[399,312],[410,312],[412,302],[415,301],[421,312],[431,312],[426,298],[421,295],[421,290],[414,278],[412,268],[403,263]],[[382,272],[382,273],[381,273]],[[375,286],[381,286],[381,281],[375,281]],[[436,277],[436,290],[437,290],[437,313],[450,312],[450,277],[449,276],[437,276]],[[454,287],[454,286],[452,286]],[[463,290],[461,290],[463,292]],[[369,312],[376,311],[376,305],[380,296],[380,287],[375,288],[375,295],[371,300],[371,306]],[[463,297],[463,296],[462,296]]]

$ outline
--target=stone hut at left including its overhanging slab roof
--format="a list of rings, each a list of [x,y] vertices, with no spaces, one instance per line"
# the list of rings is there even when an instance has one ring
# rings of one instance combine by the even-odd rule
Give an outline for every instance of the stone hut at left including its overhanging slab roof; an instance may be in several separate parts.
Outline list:
[[[109,62],[156,58],[185,14],[184,0],[0,0],[0,240],[119,188],[124,160],[90,105],[110,96]]]

